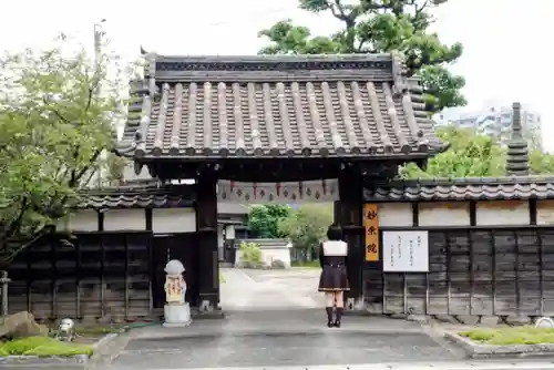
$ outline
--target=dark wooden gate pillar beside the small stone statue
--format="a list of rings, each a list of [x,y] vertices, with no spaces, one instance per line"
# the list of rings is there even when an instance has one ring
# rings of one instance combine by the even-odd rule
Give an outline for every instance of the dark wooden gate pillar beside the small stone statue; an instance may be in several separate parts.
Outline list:
[[[196,179],[196,230],[198,233],[198,306],[202,311],[218,309],[219,265],[217,250],[217,177],[202,174]]]

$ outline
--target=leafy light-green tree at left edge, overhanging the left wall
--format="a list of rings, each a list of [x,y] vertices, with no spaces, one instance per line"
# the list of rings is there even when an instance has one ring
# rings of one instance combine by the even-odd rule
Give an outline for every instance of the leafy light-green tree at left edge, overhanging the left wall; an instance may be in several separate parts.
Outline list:
[[[0,60],[0,269],[71,215],[100,154],[113,150],[124,90],[109,66],[120,71],[63,35]]]

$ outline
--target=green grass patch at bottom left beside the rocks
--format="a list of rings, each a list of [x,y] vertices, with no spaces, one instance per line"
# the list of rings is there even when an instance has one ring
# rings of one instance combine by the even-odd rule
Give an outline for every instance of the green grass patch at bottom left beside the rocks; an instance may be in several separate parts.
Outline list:
[[[0,357],[4,356],[76,356],[93,352],[91,346],[62,342],[49,337],[29,337],[0,342]]]

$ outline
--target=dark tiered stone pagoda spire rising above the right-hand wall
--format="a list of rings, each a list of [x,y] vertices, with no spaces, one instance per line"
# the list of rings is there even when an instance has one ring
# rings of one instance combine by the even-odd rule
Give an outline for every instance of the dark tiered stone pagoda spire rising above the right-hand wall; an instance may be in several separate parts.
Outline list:
[[[529,176],[529,150],[522,134],[521,104],[513,103],[512,112],[512,137],[507,142],[506,174]]]

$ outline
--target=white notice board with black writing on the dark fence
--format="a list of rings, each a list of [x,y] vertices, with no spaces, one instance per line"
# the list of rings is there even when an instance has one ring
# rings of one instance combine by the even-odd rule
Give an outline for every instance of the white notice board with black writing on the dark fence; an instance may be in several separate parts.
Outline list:
[[[383,232],[383,271],[429,273],[428,232]]]

